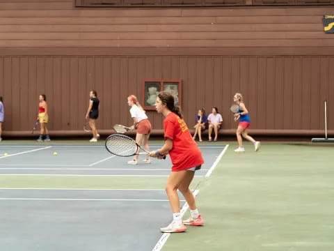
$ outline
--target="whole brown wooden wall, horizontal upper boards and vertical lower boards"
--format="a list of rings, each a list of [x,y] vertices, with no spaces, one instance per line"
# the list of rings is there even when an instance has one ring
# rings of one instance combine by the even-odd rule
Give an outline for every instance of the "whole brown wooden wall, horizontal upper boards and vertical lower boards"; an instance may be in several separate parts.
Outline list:
[[[334,114],[334,37],[321,24],[331,13],[329,6],[74,9],[72,0],[2,0],[5,130],[31,129],[40,93],[51,130],[81,130],[90,89],[101,99],[100,128],[129,124],[126,98],[141,97],[145,78],[183,80],[189,124],[198,108],[217,106],[223,128],[234,128],[228,108],[240,91],[254,129],[321,130],[324,99]],[[148,114],[161,128],[161,116]]]

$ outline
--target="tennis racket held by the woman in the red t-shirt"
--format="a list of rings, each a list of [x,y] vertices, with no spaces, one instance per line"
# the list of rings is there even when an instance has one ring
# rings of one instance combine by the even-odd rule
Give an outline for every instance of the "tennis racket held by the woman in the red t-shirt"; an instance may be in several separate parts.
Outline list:
[[[141,154],[148,155],[150,153],[149,151],[142,149],[141,146],[139,146],[131,137],[121,134],[113,134],[107,137],[105,146],[109,153],[120,157],[129,157]],[[137,153],[140,150],[143,150],[144,152]],[[166,156],[163,158],[166,159]]]

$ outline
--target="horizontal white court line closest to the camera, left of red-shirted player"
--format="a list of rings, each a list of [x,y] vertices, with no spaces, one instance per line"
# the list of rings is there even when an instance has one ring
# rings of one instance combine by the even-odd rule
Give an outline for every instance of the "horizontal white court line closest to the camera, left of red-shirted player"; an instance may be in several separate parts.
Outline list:
[[[0,198],[0,200],[39,200],[39,201],[169,201],[168,199],[76,199],[76,198]],[[184,199],[180,199],[184,201]]]

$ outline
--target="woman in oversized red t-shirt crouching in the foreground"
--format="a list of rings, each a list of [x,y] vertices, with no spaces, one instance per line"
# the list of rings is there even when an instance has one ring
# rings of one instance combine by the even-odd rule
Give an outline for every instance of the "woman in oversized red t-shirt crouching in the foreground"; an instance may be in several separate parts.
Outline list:
[[[193,180],[195,171],[200,169],[204,163],[202,153],[196,142],[191,137],[186,123],[182,119],[180,107],[174,105],[174,97],[168,92],[159,93],[155,102],[157,112],[164,115],[164,138],[165,144],[157,151],[152,151],[151,156],[163,158],[169,154],[172,160],[172,172],[166,184],[166,193],[173,211],[173,222],[167,227],[161,228],[165,233],[176,233],[186,231],[184,225],[200,226],[204,224],[196,207],[195,197],[189,185]],[[191,217],[182,222],[180,213],[180,199],[177,190],[189,204]]]

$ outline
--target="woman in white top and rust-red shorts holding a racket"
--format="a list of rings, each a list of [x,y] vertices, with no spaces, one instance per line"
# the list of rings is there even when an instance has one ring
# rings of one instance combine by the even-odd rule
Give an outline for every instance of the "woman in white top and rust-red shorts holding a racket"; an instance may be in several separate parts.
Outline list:
[[[150,151],[150,146],[148,146],[148,139],[150,138],[152,126],[148,120],[148,116],[146,116],[145,111],[139,104],[136,96],[130,95],[127,97],[127,103],[131,107],[130,114],[132,119],[134,119],[134,125],[131,127],[131,129],[137,129],[136,143],[140,146],[143,146],[146,151]],[[150,155],[146,156],[144,162],[146,164],[150,164]],[[134,155],[134,160],[130,160],[127,163],[131,165],[137,165],[138,155]]]

